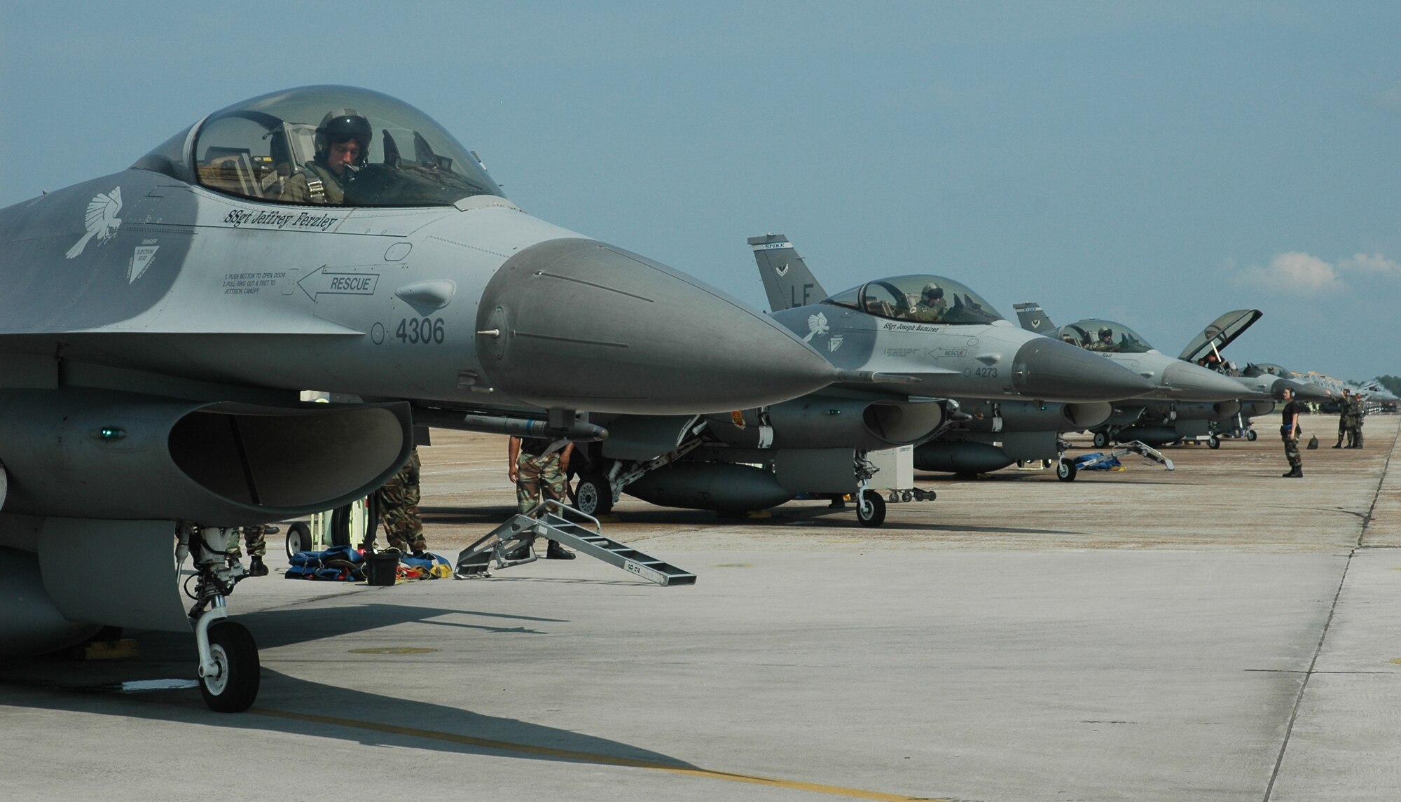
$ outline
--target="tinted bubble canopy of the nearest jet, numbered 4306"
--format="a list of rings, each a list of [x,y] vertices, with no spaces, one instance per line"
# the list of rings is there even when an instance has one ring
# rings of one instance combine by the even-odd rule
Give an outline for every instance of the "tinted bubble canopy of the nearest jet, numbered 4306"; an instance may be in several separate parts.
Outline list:
[[[343,109],[368,122],[368,149],[359,163],[332,171],[326,137],[318,137],[317,128]],[[472,195],[502,195],[481,161],[427,115],[354,87],[301,87],[234,104],[133,167],[279,203],[448,206]]]

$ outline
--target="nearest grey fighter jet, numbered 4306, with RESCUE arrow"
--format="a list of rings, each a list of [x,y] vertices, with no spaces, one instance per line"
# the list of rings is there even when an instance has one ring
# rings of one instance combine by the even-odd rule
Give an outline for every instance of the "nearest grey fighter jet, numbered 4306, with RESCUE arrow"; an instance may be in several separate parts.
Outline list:
[[[600,439],[587,412],[740,409],[835,379],[859,377],[691,276],[525,213],[398,100],[237,102],[0,210],[0,652],[193,625],[206,702],[245,709],[258,653],[227,620],[242,572],[223,527],[382,485],[422,423],[403,400]]]

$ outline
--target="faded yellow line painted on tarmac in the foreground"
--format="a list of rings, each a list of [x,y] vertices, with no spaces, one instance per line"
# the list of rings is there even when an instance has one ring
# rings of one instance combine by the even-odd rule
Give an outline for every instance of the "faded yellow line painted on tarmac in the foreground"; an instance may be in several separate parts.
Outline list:
[[[289,718],[294,721],[310,721],[315,723],[329,723],[335,726],[349,726],[354,729],[368,729],[374,732],[387,732],[391,735],[406,735],[412,738],[426,738],[430,740],[446,740],[448,743],[462,743],[467,746],[481,746],[485,749],[496,749],[500,752],[520,752],[525,754],[539,754],[542,757],[559,757],[563,760],[577,760],[580,763],[598,763],[604,766],[625,766],[629,768],[650,768],[653,771],[665,771],[668,774],[685,774],[689,777],[705,777],[710,780],[730,780],[733,782],[752,782],[755,785],[768,785],[771,788],[787,788],[792,791],[811,791],[814,794],[829,794],[832,796],[850,796],[853,799],[880,799],[883,802],[911,802],[930,801],[929,796],[906,796],[904,794],[884,794],[880,791],[863,791],[860,788],[843,788],[841,785],[821,785],[818,782],[800,782],[797,780],[775,780],[772,777],[755,777],[751,774],[734,774],[730,771],[710,771],[708,768],[693,768],[685,766],[674,766],[670,763],[657,763],[654,760],[635,760],[630,757],[612,757],[608,754],[593,754],[590,752],[572,752],[569,749],[552,749],[548,746],[531,746],[528,743],[511,743],[509,740],[492,740],[488,738],[472,738],[471,735],[455,735],[451,732],[436,732],[432,729],[415,729],[410,726],[395,726],[391,723],[378,723],[373,721],[356,721],[349,718],[332,718],[328,715],[312,715],[305,712],[289,712],[283,709],[270,708],[252,708],[248,712],[258,715],[269,715],[275,718]],[[932,801],[939,802],[939,801]]]

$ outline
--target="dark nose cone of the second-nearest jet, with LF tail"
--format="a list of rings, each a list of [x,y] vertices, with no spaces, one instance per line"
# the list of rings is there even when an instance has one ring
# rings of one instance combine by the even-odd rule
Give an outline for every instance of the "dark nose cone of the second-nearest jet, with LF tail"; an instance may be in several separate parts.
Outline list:
[[[1045,401],[1118,401],[1153,390],[1138,373],[1049,337],[1017,349],[1012,384],[1023,395]]]

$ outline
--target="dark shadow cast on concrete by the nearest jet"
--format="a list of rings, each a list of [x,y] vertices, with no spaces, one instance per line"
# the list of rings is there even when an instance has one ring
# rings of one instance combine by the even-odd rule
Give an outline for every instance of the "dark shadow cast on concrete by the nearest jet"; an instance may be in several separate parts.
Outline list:
[[[516,627],[447,624],[493,634],[528,634],[535,632],[530,628],[530,621],[562,621],[560,618],[399,604],[270,610],[240,616],[238,620],[254,632],[261,649],[273,649],[360,631],[366,628],[367,621],[373,623],[373,627],[381,628],[448,614],[503,618],[506,620],[503,624],[509,621],[523,623]],[[251,711],[234,715],[214,714],[205,709],[196,687],[139,693],[123,690],[123,681],[157,677],[195,679],[195,663],[191,659],[195,652],[192,634],[144,632],[139,635],[139,639],[143,656],[133,662],[91,665],[55,656],[0,662],[0,683],[41,691],[4,693],[0,694],[0,702],[13,707],[76,709],[147,721],[193,722],[248,732],[336,738],[366,746],[432,749],[453,754],[504,754],[560,763],[695,768],[674,757],[616,740],[513,718],[482,715],[448,705],[311,681],[268,667],[262,669],[262,687],[258,702]],[[336,663],[333,670],[345,672],[345,667]],[[443,676],[453,673],[441,667],[437,670]],[[474,679],[467,666],[461,676],[462,681],[478,684],[482,684],[485,679]],[[94,695],[102,702],[83,701]]]

